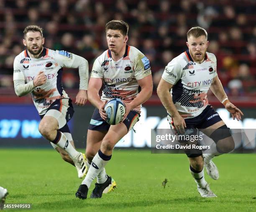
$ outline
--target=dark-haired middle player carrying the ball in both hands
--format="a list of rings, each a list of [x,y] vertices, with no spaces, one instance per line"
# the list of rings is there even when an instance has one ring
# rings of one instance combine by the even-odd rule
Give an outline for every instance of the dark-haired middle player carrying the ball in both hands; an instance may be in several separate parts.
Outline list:
[[[112,20],[106,24],[105,31],[108,50],[95,60],[88,85],[88,100],[96,109],[87,132],[86,157],[91,165],[75,194],[80,199],[87,198],[96,176],[100,179],[97,177],[91,198],[102,197],[106,188],[111,189],[112,178],[104,167],[111,159],[115,144],[138,122],[141,104],[151,97],[153,89],[149,60],[138,49],[127,45],[128,24]],[[123,100],[126,108],[123,122],[117,125],[109,125],[105,121],[104,105],[113,98]]]

